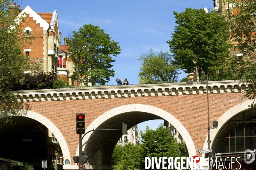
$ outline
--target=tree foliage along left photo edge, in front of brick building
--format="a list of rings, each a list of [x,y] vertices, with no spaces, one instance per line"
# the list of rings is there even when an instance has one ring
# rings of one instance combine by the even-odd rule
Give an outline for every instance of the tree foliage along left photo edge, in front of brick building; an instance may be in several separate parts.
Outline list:
[[[9,10],[11,0],[0,0],[0,119],[8,121],[9,113],[17,115],[22,103],[17,102],[17,94],[12,92],[16,82],[23,82],[24,71],[29,68],[29,59],[23,54],[32,35],[26,36],[17,21],[19,11]]]

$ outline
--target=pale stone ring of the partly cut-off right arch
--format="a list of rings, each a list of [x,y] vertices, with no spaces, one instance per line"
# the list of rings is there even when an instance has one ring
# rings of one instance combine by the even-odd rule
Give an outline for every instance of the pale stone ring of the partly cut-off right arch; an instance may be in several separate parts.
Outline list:
[[[230,108],[228,111],[226,111],[225,113],[223,113],[219,118],[218,118],[218,127],[215,129],[212,129],[210,131],[210,140],[211,142],[211,147],[212,144],[214,143],[218,132],[222,129],[222,127],[228,122],[230,121],[230,119],[232,119],[234,116],[238,115],[239,113],[242,113],[243,111],[246,111],[247,109],[250,108],[250,105],[253,103],[254,100],[248,100],[246,102],[242,102],[236,106],[234,106],[233,108]],[[255,101],[254,101],[255,102]],[[203,150],[207,150],[208,149],[208,134],[206,135],[206,139],[204,141],[204,147]]]

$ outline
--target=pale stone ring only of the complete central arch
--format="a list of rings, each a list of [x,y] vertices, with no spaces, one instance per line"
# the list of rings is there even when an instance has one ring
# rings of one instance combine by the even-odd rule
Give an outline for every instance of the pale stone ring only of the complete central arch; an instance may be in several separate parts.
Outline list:
[[[183,137],[184,142],[186,143],[188,152],[189,152],[189,157],[192,157],[196,155],[196,150],[195,150],[195,144],[189,135],[189,132],[186,130],[186,128],[182,125],[182,123],[176,119],[172,114],[151,106],[151,105],[141,105],[141,104],[134,104],[134,105],[122,105],[117,108],[113,108],[105,113],[103,113],[101,116],[96,118],[85,130],[85,133],[99,128],[100,125],[102,125],[104,122],[107,120],[110,120],[114,116],[118,116],[120,114],[124,113],[131,113],[131,112],[141,112],[141,113],[146,113],[146,114],[152,114],[154,116],[157,116],[158,118],[165,119],[166,121],[170,122],[180,133],[180,135]],[[83,145],[83,150],[84,147],[86,146],[87,142],[90,141],[90,136],[92,133],[88,133],[86,136],[84,136],[84,139],[82,141]],[[79,145],[76,150],[76,155],[79,155]]]

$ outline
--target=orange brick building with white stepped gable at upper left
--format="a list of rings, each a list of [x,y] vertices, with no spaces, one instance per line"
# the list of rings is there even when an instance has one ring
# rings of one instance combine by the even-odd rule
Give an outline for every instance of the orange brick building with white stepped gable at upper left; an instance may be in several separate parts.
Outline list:
[[[20,8],[17,9],[20,10]],[[26,6],[19,16],[24,16],[24,22],[20,22],[24,28],[24,34],[27,36],[32,34],[35,38],[32,44],[23,50],[29,57],[30,64],[35,66],[36,71],[57,73],[61,44],[57,11],[37,13],[30,6]]]

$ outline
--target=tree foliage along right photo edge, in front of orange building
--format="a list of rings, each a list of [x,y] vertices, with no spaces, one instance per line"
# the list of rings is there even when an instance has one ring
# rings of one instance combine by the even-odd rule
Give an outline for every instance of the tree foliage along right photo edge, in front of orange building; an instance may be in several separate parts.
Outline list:
[[[256,97],[256,1],[255,0],[224,0],[230,3],[232,10],[224,13],[229,18],[230,30],[235,43],[234,48],[242,54],[233,56],[232,68],[237,79],[247,83],[244,98]],[[221,3],[220,3],[221,4]],[[253,102],[252,108],[256,107]]]

